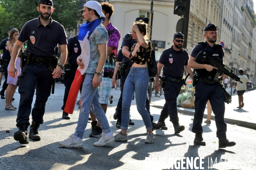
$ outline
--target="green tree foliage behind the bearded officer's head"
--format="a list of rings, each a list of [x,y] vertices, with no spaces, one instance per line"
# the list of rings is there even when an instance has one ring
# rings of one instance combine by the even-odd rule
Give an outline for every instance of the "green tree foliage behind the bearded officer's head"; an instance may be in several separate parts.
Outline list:
[[[0,5],[5,8],[6,12],[12,14],[9,23],[13,23],[13,27],[21,30],[27,21],[39,17],[39,12],[36,8],[38,1],[2,0],[0,1]],[[77,17],[78,0],[53,0],[52,2],[55,8],[52,13],[52,19],[61,23],[67,31],[76,29],[77,21],[79,20]]]

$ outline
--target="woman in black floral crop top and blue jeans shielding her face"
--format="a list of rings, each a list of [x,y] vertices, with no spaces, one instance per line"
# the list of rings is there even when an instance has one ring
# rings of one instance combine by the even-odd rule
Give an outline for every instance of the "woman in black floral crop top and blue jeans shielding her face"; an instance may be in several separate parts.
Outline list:
[[[149,82],[148,62],[151,62],[151,42],[147,40],[147,28],[148,24],[145,24],[142,20],[137,21],[132,26],[131,35],[134,40],[137,40],[137,43],[132,46],[131,54],[129,55],[132,67],[123,88],[121,132],[115,136],[116,141],[128,140],[126,131],[130,120],[130,107],[134,92],[136,94],[137,110],[142,116],[147,130],[145,143],[152,143],[154,140],[151,120],[145,108]]]

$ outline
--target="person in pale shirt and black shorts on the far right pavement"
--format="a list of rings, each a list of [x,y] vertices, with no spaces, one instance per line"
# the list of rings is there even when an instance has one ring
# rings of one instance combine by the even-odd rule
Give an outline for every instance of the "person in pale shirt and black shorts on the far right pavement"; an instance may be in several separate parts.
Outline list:
[[[243,70],[239,70],[239,78],[240,81],[243,82],[235,82],[235,87],[236,87],[236,91],[237,91],[237,95],[238,95],[238,102],[239,102],[239,109],[244,107],[244,97],[243,94],[246,91],[246,85],[249,84],[249,79],[243,75],[244,71]]]

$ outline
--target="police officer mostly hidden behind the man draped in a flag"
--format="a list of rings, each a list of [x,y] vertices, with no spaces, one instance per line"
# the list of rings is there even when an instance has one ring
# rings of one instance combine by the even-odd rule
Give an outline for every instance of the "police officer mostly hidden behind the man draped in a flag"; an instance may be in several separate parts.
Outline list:
[[[79,27],[82,24],[79,25]],[[79,32],[79,27],[78,27],[78,32]],[[67,96],[70,91],[70,87],[72,85],[73,80],[75,79],[76,75],[76,70],[78,68],[78,64],[76,62],[77,57],[81,55],[81,47],[80,43],[77,40],[78,37],[78,32],[77,35],[74,37],[70,37],[67,40],[67,55],[68,59],[66,60],[65,66],[64,66],[64,72],[65,72],[65,77],[64,77],[64,85],[65,85],[65,93],[64,93],[64,98],[63,98],[63,106],[61,107],[62,110],[64,110],[66,102],[67,102]],[[68,113],[64,112],[62,113],[62,118],[63,119],[70,119],[68,116]]]

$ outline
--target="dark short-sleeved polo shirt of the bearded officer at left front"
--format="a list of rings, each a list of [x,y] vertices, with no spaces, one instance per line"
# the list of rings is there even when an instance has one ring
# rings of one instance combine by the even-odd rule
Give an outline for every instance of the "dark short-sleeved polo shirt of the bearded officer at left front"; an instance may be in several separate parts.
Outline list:
[[[50,23],[44,27],[40,17],[28,21],[20,31],[18,40],[27,43],[27,51],[38,57],[55,57],[55,48],[67,44],[64,27],[50,18]]]

